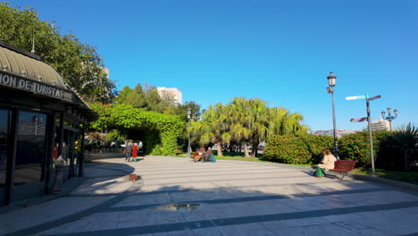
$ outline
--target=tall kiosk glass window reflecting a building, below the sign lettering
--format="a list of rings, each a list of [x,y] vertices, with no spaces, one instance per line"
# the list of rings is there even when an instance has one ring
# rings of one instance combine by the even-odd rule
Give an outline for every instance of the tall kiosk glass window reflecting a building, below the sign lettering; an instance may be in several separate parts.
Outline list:
[[[14,184],[42,181],[46,152],[46,114],[19,112]]]

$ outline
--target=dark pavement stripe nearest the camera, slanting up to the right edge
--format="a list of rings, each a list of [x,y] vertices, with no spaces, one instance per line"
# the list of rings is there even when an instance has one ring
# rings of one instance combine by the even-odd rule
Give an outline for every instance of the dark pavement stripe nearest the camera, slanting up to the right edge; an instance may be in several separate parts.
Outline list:
[[[186,223],[165,223],[155,224],[138,227],[127,227],[120,229],[99,230],[89,232],[71,232],[71,233],[54,233],[43,235],[60,235],[60,236],[129,236],[129,235],[141,235],[146,233],[158,233],[158,232],[176,232],[190,229],[203,229],[218,226],[238,225],[247,223],[263,223],[263,222],[277,222],[292,219],[304,219],[315,218],[329,215],[347,215],[364,212],[385,212],[388,210],[402,209],[408,207],[418,206],[418,201],[413,202],[400,202],[390,204],[379,204],[371,206],[353,206],[353,207],[339,207],[334,209],[313,210],[305,212],[284,213],[284,214],[272,214],[272,215],[254,215],[254,216],[242,216],[231,217],[222,219],[212,219],[203,221],[194,221]]]

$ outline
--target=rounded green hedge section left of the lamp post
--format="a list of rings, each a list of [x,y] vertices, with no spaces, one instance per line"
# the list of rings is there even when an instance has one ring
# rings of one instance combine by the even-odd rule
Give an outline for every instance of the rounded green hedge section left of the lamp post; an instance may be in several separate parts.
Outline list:
[[[322,158],[322,149],[332,147],[332,140],[332,137],[314,134],[272,136],[263,158],[285,164],[316,164]]]

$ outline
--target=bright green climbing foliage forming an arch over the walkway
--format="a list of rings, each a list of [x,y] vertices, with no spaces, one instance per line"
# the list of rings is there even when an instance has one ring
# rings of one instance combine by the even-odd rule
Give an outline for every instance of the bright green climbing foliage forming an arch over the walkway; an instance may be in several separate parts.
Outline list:
[[[186,125],[179,116],[148,112],[124,104],[96,103],[90,107],[100,115],[96,122],[90,123],[91,128],[96,130],[114,128],[145,133],[143,138],[146,154],[156,156],[176,154],[177,139]]]

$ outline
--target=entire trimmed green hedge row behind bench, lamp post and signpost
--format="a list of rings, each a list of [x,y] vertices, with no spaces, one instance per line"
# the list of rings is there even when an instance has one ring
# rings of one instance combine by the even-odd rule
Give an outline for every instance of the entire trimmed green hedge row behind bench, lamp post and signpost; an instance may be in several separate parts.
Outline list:
[[[398,165],[397,150],[390,144],[389,131],[373,131],[373,150],[376,164],[387,167]],[[368,165],[370,141],[368,131],[348,134],[338,139],[339,158],[358,161],[357,166]],[[267,160],[287,164],[315,164],[321,161],[323,148],[333,149],[330,136],[304,134],[275,136],[267,141],[263,156]]]

